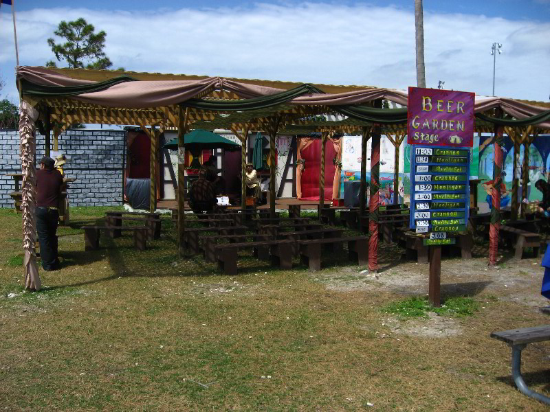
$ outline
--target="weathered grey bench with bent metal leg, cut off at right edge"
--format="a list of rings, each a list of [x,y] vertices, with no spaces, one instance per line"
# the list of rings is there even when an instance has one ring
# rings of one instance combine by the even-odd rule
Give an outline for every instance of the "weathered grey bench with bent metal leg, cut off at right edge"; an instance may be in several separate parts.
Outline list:
[[[521,351],[529,343],[550,341],[550,325],[533,326],[492,332],[491,337],[507,343],[511,347],[511,376],[520,392],[545,404],[550,404],[550,398],[531,391],[521,376]]]

